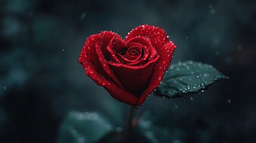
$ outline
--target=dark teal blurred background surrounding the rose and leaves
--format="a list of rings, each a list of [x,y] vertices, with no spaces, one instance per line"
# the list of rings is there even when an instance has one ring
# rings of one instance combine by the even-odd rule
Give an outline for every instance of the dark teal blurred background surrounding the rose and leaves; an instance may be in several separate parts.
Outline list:
[[[78,58],[88,36],[125,38],[140,24],[165,29],[177,45],[172,63],[201,61],[230,77],[183,98],[151,95],[135,111],[150,116],[146,128],[161,127],[146,138],[256,141],[256,1],[1,0],[0,20],[0,142],[86,142],[63,131],[70,111],[100,113],[122,132],[128,105],[87,77]]]

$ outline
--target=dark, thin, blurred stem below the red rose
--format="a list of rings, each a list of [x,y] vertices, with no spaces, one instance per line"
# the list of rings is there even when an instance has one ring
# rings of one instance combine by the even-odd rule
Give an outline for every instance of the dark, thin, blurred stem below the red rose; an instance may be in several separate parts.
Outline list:
[[[132,119],[134,116],[134,106],[130,105],[128,108],[128,122],[127,122],[127,142],[132,142]]]

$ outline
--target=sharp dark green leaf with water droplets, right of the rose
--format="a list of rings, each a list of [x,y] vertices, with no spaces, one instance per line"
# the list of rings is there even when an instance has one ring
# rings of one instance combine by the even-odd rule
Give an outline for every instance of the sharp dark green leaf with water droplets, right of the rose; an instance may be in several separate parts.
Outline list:
[[[172,64],[170,71],[165,73],[161,85],[156,88],[155,95],[175,98],[184,94],[203,91],[212,83],[227,79],[214,67],[195,61]]]

